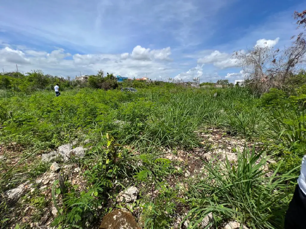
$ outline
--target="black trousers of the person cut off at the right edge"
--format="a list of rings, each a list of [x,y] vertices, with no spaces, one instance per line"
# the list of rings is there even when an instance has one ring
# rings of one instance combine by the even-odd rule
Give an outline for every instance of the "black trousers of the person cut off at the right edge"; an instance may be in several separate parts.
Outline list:
[[[297,185],[285,216],[285,229],[305,229],[305,219],[306,195],[300,189],[299,185]]]

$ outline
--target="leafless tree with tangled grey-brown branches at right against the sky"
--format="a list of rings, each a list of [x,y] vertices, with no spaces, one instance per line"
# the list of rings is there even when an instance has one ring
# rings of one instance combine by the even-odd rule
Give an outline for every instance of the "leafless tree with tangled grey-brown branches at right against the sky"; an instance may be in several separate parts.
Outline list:
[[[292,37],[293,39],[294,37]],[[267,44],[235,52],[233,58],[243,68],[248,85],[260,95],[270,88],[285,89],[288,80],[296,74],[305,61],[306,41],[301,33],[290,47],[274,49]]]

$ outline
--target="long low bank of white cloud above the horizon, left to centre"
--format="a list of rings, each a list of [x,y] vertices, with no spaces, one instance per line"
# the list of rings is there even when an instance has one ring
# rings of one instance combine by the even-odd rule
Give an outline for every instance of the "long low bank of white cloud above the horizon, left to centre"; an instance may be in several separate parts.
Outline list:
[[[137,47],[137,46],[136,46]],[[140,47],[141,48],[141,47]],[[135,51],[136,50],[136,51]],[[169,77],[174,71],[171,62],[168,60],[171,53],[170,48],[149,49],[149,58],[140,58],[146,55],[144,49],[134,49],[132,57],[129,53],[118,54],[79,54],[71,55],[64,49],[56,49],[50,53],[36,50],[18,50],[5,47],[0,49],[0,65],[5,71],[15,71],[16,65],[20,71],[30,71],[41,69],[46,74],[75,76],[80,71],[83,74],[96,74],[102,69],[105,72],[113,72],[122,76],[143,77],[146,74],[150,78],[156,78],[156,75],[162,75],[163,78]],[[132,53],[133,53],[132,51]]]

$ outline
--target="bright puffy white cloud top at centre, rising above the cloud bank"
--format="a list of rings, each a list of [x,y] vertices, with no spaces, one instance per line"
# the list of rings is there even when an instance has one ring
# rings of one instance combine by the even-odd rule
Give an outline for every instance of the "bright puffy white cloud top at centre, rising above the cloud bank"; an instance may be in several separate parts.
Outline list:
[[[170,47],[151,50],[149,48],[143,48],[140,45],[137,45],[131,53],[131,57],[135,60],[170,60],[170,55]]]

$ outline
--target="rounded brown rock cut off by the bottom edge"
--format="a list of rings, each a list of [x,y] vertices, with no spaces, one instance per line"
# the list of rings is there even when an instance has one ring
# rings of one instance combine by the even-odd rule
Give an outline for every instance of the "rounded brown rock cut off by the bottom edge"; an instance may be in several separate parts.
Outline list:
[[[100,229],[141,229],[130,212],[115,209],[106,214],[99,227]]]

